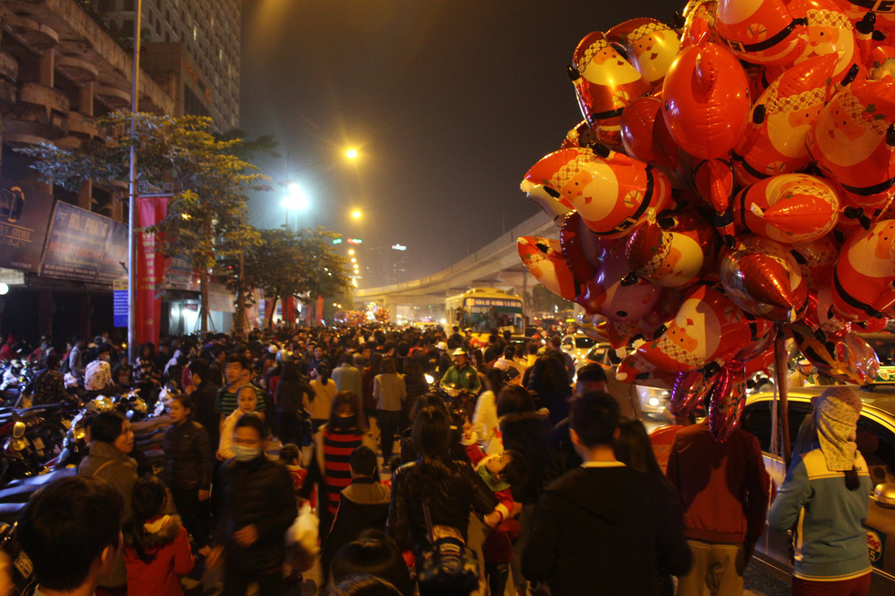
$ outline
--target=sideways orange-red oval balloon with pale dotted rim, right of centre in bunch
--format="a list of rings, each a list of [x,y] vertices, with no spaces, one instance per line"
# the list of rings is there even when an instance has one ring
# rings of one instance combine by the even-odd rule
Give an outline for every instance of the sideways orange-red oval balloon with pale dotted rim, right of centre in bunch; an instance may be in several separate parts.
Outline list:
[[[786,244],[810,242],[837,224],[839,199],[820,178],[786,173],[742,189],[733,213],[736,222],[753,234]]]

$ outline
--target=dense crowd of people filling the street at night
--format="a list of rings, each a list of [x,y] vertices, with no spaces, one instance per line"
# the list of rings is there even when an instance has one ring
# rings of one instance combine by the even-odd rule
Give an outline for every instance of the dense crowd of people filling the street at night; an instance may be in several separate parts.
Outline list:
[[[333,595],[740,594],[766,519],[795,528],[794,594],[867,593],[857,395],[818,396],[769,510],[753,434],[718,443],[678,421],[663,470],[603,368],[575,371],[558,348],[318,328],[168,339],[132,366],[102,337],[47,350],[36,403],[63,374],[174,397],[156,475],[132,458],[130,422],[101,413],[78,476],[28,503],[40,593],[180,596],[198,566],[223,569],[227,596],[283,594],[319,564]],[[319,555],[286,539],[300,511]]]

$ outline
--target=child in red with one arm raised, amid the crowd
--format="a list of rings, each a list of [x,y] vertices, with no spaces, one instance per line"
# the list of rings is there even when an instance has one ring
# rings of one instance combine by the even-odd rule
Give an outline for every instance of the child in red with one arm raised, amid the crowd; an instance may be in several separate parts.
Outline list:
[[[519,521],[513,518],[519,515],[522,508],[521,503],[517,505],[513,501],[510,488],[524,484],[528,477],[528,464],[518,451],[486,455],[469,421],[463,426],[463,445],[476,472],[500,501],[494,509],[502,516],[500,524],[485,538],[481,550],[490,593],[502,594],[510,577],[512,543],[519,538],[520,532]]]

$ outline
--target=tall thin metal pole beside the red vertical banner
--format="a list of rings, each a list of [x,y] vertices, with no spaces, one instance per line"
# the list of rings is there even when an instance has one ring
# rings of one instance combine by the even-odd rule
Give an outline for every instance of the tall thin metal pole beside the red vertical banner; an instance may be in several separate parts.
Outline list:
[[[137,361],[137,110],[140,100],[140,21],[142,0],[134,4],[133,70],[131,85],[131,173],[128,184],[128,355],[131,364]]]

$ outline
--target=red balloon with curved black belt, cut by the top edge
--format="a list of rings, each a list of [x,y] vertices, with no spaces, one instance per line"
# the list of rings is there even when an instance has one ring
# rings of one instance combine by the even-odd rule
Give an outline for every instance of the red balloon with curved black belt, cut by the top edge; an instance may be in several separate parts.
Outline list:
[[[806,18],[796,10],[800,6],[785,0],[718,0],[715,31],[737,58],[789,66],[807,46]]]

